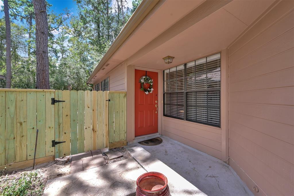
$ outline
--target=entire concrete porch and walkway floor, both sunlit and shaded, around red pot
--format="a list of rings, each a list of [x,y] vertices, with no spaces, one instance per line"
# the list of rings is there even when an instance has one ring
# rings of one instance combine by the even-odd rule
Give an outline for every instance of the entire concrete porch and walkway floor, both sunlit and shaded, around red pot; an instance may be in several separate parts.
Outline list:
[[[87,153],[76,155],[76,158],[81,156],[83,165],[85,162],[91,168],[49,180],[44,195],[133,196],[138,176],[156,171],[168,178],[172,196],[253,196],[223,161],[171,138],[160,137],[163,139],[160,145],[143,146],[136,143],[125,146],[132,157],[107,165],[97,165],[99,160],[95,156],[83,158]],[[99,153],[98,157],[101,155]]]

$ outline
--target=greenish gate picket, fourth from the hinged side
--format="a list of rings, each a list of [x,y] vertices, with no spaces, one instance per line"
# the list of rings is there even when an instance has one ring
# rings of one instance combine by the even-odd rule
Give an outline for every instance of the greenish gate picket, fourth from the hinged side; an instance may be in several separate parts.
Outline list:
[[[85,92],[78,91],[78,153],[85,152]]]

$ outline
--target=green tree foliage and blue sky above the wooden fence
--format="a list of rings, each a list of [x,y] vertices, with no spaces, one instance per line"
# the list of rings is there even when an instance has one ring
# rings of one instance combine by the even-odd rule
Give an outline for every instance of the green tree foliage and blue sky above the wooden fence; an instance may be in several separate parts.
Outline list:
[[[50,87],[56,90],[91,90],[91,72],[111,46],[142,0],[75,0],[78,16],[69,10],[48,14]],[[35,14],[32,0],[9,0],[11,16],[11,88],[36,88]],[[2,10],[3,11],[3,10]],[[20,21],[20,22],[17,22]],[[6,75],[5,21],[0,19],[0,75]],[[0,80],[5,88],[5,80]]]

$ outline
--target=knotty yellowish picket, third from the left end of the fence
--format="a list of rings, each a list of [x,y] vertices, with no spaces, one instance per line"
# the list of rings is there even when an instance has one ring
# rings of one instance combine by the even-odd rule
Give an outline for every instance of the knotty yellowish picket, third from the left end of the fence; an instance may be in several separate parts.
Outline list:
[[[16,92],[16,162],[26,160],[27,100],[26,91]]]

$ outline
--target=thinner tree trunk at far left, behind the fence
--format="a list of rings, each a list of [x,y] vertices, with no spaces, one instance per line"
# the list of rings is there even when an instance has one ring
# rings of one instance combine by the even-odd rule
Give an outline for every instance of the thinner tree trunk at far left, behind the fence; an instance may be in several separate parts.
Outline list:
[[[6,26],[6,88],[11,88],[11,29],[8,0],[4,0],[4,15]]]

